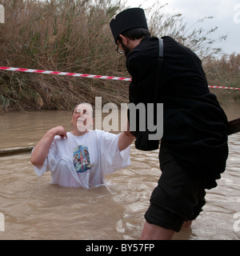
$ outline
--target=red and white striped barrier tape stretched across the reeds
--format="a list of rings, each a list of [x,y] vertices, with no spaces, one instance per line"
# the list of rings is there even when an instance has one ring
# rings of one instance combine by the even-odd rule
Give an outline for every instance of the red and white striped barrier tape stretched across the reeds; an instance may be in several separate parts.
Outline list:
[[[131,81],[131,78],[119,78],[119,77],[111,77],[111,76],[96,75],[96,74],[67,73],[67,72],[48,71],[48,70],[31,70],[31,69],[22,69],[22,68],[7,67],[7,66],[0,66],[0,70],[40,73],[40,74],[58,74],[58,75],[67,75],[67,76],[79,77],[79,78],[99,78],[99,79],[109,79],[109,80],[118,80],[118,81],[129,81],[129,82]],[[240,88],[238,87],[225,87],[225,86],[209,86],[209,87],[218,88],[218,89],[240,90]]]

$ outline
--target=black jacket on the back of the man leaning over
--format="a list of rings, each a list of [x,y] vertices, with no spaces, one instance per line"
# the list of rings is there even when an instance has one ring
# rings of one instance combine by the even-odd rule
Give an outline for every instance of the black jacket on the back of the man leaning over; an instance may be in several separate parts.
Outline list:
[[[156,102],[163,103],[161,147],[166,146],[190,174],[218,177],[228,156],[226,114],[210,94],[198,56],[173,38],[162,39],[161,71],[158,38],[143,38],[126,56],[132,76],[130,102],[153,103],[156,97]]]

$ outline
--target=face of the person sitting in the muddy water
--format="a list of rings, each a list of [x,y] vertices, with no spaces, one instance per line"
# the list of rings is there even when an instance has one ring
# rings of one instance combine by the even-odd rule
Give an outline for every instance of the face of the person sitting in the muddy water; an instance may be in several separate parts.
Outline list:
[[[85,104],[79,104],[74,110],[72,124],[81,132],[90,130],[93,125],[92,108]]]

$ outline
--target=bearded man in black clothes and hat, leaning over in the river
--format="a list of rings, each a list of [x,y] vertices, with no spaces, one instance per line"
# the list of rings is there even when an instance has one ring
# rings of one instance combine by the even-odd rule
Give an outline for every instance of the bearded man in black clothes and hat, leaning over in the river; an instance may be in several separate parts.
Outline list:
[[[206,203],[205,190],[217,186],[215,180],[226,168],[226,114],[210,94],[202,62],[192,50],[162,37],[159,62],[159,39],[151,37],[144,10],[122,11],[110,28],[132,76],[130,103],[163,103],[162,174],[150,197],[141,238],[170,239],[198,217]],[[138,126],[132,131],[136,141]]]

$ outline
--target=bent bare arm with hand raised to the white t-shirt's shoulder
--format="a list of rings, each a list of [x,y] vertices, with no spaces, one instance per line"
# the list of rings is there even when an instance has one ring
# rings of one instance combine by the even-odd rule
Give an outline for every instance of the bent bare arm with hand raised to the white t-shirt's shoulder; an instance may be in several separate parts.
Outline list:
[[[34,151],[31,155],[31,163],[34,166],[42,166],[47,154],[50,150],[50,146],[54,141],[55,135],[59,135],[62,138],[66,137],[66,130],[62,126],[54,127],[46,132],[38,144],[34,147]]]

